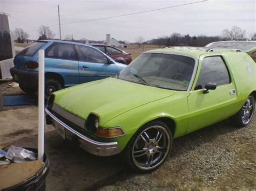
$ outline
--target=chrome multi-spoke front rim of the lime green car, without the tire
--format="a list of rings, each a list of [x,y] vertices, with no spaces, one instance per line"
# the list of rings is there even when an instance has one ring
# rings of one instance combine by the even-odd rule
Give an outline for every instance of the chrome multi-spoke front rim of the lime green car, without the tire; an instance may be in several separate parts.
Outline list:
[[[166,159],[171,148],[170,134],[162,126],[143,130],[132,147],[132,160],[139,169],[150,170]]]

